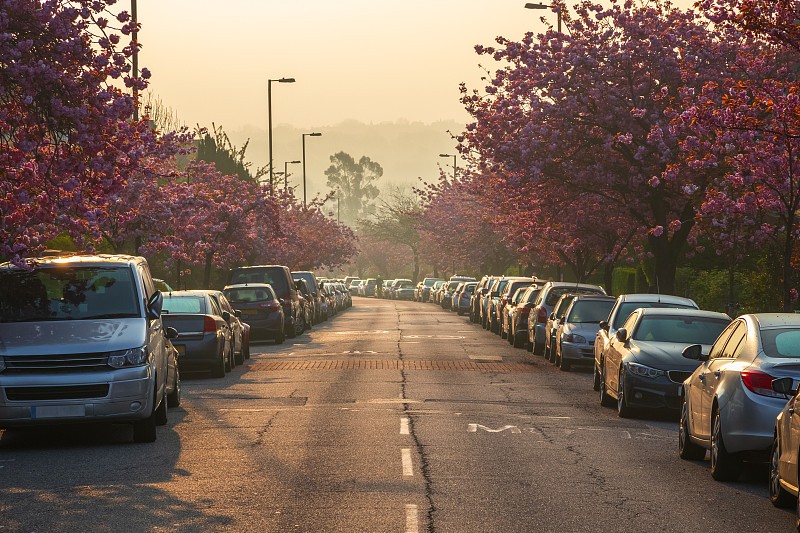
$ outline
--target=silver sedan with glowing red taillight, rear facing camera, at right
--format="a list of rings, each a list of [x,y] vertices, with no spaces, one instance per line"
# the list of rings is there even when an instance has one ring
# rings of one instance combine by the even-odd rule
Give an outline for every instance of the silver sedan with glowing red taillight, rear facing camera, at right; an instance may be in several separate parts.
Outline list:
[[[710,351],[693,345],[683,355],[700,366],[683,384],[680,456],[697,459],[711,450],[711,476],[735,480],[743,459],[769,457],[787,401],[773,380],[800,379],[800,315],[742,315]]]

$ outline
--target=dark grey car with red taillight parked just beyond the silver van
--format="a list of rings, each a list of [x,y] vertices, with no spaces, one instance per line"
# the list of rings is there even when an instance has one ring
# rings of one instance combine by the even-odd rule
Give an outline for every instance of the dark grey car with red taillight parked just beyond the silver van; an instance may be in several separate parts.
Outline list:
[[[164,296],[164,324],[178,331],[172,342],[181,372],[203,371],[221,378],[235,365],[233,333],[223,311],[207,291],[173,291]]]

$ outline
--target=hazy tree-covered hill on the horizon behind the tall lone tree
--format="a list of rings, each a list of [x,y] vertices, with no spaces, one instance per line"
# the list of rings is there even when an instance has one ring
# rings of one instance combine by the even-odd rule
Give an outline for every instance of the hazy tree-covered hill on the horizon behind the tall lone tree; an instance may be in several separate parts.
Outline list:
[[[225,128],[225,125],[222,124]],[[330,156],[344,151],[356,159],[366,155],[383,167],[383,178],[378,186],[384,190],[391,186],[410,187],[426,181],[436,180],[439,165],[448,174],[453,172],[453,159],[441,158],[440,153],[455,154],[456,142],[448,131],[458,135],[464,124],[455,121],[434,122],[382,122],[364,124],[355,120],[333,126],[300,130],[286,124],[273,125],[272,150],[275,172],[283,172],[284,161],[302,160],[302,133],[319,131],[322,137],[306,137],[306,180],[308,198],[326,191],[325,169],[330,165]],[[231,141],[241,147],[249,138],[246,159],[253,163],[253,170],[267,164],[269,148],[267,127],[248,127],[236,130],[225,129]],[[463,162],[459,158],[459,167]],[[302,196],[302,164],[289,165],[289,184],[297,186]],[[283,176],[276,180],[283,183]]]

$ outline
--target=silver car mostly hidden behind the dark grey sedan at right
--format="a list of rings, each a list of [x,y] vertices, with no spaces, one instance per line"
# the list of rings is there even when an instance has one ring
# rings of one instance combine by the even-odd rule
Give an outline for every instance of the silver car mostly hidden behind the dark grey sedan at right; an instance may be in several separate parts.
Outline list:
[[[600,322],[594,340],[594,379],[592,388],[600,390],[600,366],[608,344],[628,316],[639,307],[656,309],[699,309],[694,300],[667,294],[622,294],[617,297],[608,318]]]

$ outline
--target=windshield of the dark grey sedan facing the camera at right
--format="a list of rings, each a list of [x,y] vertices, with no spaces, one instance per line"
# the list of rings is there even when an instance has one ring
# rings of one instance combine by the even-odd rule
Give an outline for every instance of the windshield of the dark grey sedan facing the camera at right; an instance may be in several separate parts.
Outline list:
[[[632,338],[679,344],[713,344],[730,320],[681,316],[645,315]]]

